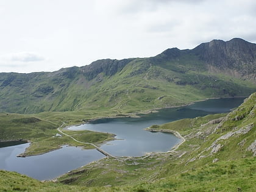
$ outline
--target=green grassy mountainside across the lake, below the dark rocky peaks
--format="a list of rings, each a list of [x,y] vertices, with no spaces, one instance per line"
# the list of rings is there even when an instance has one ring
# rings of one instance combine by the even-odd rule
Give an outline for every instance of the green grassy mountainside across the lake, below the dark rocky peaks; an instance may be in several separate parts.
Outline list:
[[[0,111],[103,109],[129,113],[205,98],[249,96],[256,90],[247,80],[208,72],[206,64],[194,55],[158,57],[133,59],[121,71],[98,73],[93,79],[77,67],[53,73],[1,73]]]

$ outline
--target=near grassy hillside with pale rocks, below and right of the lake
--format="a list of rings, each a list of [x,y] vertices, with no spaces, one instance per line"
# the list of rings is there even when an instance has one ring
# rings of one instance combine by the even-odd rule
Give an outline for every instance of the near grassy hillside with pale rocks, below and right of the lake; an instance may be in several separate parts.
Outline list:
[[[38,182],[0,171],[2,191],[255,191],[256,93],[229,114],[181,119],[154,129],[178,131],[185,142],[144,160],[104,158]]]

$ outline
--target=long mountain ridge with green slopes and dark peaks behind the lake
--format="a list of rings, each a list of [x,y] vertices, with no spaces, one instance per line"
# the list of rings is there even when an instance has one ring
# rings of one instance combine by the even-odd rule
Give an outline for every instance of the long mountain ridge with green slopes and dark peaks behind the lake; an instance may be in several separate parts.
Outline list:
[[[52,73],[0,73],[0,112],[132,113],[256,91],[256,44],[213,40],[155,57],[97,60]]]

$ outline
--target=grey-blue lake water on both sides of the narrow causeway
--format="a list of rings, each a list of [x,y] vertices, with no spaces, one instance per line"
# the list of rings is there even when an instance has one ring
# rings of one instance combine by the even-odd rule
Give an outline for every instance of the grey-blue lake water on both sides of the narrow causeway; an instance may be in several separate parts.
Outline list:
[[[182,118],[229,112],[243,100],[244,98],[209,99],[187,107],[162,109],[158,113],[143,115],[142,118],[102,119],[93,124],[74,126],[70,129],[115,133],[116,138],[120,140],[102,145],[104,151],[118,156],[140,156],[146,152],[169,151],[179,143],[179,138],[170,133],[147,132],[144,128]],[[43,155],[16,157],[28,146],[29,143],[0,148],[0,169],[20,172],[38,180],[48,180],[104,157],[95,149],[82,150],[70,146],[63,146],[62,149]]]

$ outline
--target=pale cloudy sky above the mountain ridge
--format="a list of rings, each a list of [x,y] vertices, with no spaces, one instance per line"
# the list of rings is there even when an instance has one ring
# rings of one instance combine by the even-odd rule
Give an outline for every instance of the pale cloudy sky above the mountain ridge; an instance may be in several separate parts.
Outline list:
[[[0,73],[151,57],[213,39],[256,43],[255,26],[255,0],[0,0]]]

